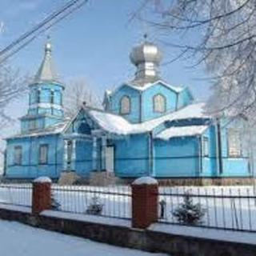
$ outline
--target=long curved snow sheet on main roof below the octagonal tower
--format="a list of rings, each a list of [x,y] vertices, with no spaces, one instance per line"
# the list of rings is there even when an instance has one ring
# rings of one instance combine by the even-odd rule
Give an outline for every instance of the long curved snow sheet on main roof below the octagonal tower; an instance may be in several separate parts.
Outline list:
[[[186,106],[180,110],[163,115],[160,118],[154,118],[146,122],[132,124],[122,116],[110,114],[102,110],[90,110],[87,112],[102,127],[113,134],[140,134],[153,130],[156,126],[165,121],[189,119],[189,118],[210,118],[204,113],[205,103],[197,103]]]

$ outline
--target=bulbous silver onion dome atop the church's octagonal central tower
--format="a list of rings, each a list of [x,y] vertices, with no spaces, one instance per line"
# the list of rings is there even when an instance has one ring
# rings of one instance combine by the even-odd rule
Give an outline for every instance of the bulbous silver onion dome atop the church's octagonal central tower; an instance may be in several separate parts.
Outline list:
[[[145,38],[146,39],[146,38]],[[162,52],[152,42],[143,42],[135,46],[130,53],[130,61],[137,67],[132,81],[136,86],[143,86],[148,82],[159,79],[158,66],[162,60]]]

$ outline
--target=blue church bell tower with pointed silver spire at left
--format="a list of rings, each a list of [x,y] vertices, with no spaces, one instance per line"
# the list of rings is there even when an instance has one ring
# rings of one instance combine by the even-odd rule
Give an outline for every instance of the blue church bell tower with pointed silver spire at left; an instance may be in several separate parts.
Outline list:
[[[49,41],[46,42],[42,64],[29,89],[29,109],[21,118],[22,132],[44,130],[62,122],[62,94],[65,86],[54,68],[52,45]]]

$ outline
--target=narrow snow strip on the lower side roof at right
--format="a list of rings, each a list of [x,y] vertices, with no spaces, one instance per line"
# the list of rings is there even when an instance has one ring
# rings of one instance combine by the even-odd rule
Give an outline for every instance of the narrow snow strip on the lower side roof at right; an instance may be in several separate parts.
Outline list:
[[[155,138],[168,140],[174,137],[186,137],[202,134],[209,126],[178,126],[163,130]]]

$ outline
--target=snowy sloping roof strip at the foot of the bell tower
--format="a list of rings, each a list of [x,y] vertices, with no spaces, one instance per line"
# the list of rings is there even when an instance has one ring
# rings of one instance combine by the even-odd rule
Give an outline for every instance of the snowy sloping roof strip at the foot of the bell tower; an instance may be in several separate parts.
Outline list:
[[[60,134],[65,129],[66,125],[70,122],[70,119],[66,119],[64,122],[59,122],[54,126],[46,127],[43,130],[31,130],[27,133],[16,134],[8,138],[24,138],[24,137],[36,137],[50,134]],[[6,139],[8,139],[6,138]]]

